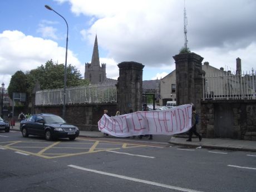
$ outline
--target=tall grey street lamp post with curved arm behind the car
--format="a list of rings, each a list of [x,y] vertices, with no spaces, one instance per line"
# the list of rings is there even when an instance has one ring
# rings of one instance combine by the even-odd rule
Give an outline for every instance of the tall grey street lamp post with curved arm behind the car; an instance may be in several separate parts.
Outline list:
[[[53,10],[50,6],[45,5],[45,7],[53,12],[55,12],[56,14],[58,14],[59,16],[61,16],[61,14],[57,13],[55,10]],[[67,24],[66,19],[61,16],[64,21]],[[67,25],[67,40],[66,40],[66,58],[65,58],[65,72],[64,72],[64,88],[63,88],[63,109],[62,109],[62,117],[63,119],[65,119],[66,116],[66,86],[67,86],[67,42],[68,42],[68,25]]]

